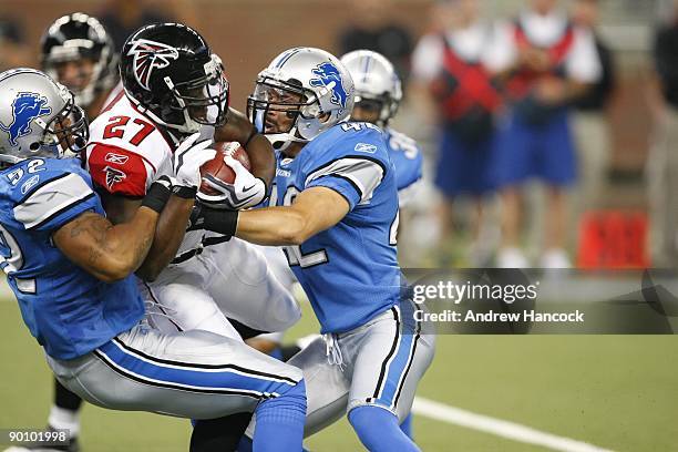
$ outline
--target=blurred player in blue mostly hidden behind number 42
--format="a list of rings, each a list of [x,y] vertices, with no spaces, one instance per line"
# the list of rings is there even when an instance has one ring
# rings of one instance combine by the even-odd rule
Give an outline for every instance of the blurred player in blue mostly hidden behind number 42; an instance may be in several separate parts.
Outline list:
[[[341,56],[356,85],[356,104],[351,121],[379,125],[396,167],[396,185],[401,207],[413,197],[422,176],[423,155],[417,142],[389,126],[396,116],[402,88],[393,64],[371,50],[356,50]]]

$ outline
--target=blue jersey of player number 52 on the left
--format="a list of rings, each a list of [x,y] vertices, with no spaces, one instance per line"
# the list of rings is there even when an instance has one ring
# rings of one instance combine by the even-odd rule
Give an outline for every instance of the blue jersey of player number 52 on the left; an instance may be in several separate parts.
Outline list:
[[[84,212],[103,215],[79,160],[31,158],[0,171],[0,267],[48,355],[83,356],[143,317],[134,277],[103,282],[52,243],[55,230]]]

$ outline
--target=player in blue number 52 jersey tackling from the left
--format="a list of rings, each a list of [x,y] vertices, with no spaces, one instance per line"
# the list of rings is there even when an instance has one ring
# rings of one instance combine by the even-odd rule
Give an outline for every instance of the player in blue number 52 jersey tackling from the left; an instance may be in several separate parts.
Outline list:
[[[301,371],[206,331],[163,335],[142,321],[132,274],[151,248],[173,196],[154,182],[129,222],[104,215],[90,175],[74,157],[88,121],[73,94],[42,72],[0,74],[0,267],[24,322],[55,377],[91,403],[212,420],[255,411],[255,445],[301,449]],[[174,153],[174,187],[199,185],[215,156],[187,140]],[[214,450],[210,422],[191,449]]]

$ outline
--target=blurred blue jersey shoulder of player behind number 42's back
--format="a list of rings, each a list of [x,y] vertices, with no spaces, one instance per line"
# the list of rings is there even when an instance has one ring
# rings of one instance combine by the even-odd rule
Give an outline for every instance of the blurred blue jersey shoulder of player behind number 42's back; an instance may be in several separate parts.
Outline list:
[[[389,157],[396,167],[396,184],[401,206],[408,201],[408,188],[421,179],[423,155],[413,138],[388,127],[383,131]]]

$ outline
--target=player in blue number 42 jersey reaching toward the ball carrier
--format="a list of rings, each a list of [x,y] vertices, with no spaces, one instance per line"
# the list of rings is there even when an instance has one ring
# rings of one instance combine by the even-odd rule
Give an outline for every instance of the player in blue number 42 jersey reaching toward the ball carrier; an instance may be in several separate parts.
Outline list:
[[[414,451],[399,420],[431,363],[433,337],[401,297],[396,172],[377,125],[345,122],[353,96],[349,72],[328,52],[278,55],[248,100],[278,154],[270,207],[205,209],[203,222],[285,246],[323,335],[289,361],[308,387],[306,434],[348,412],[370,451]]]

